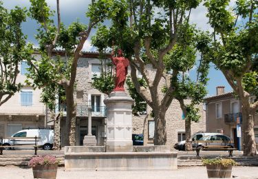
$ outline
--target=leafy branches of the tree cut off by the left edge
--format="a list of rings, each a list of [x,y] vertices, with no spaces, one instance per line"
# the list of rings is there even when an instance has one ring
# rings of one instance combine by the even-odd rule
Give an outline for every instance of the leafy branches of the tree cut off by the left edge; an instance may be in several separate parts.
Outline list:
[[[16,7],[8,12],[2,5],[0,1],[0,106],[21,89],[22,84],[17,83],[19,64],[32,53],[21,30],[26,10]]]

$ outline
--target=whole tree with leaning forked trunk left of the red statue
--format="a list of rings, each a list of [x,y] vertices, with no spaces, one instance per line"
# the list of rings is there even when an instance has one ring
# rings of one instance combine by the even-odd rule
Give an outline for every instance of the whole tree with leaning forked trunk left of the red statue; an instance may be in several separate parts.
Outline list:
[[[54,12],[50,10],[45,0],[30,0],[30,2],[30,16],[39,23],[39,33],[36,35],[36,39],[39,41],[41,53],[40,61],[30,61],[30,78],[33,78],[34,86],[44,87],[50,83],[56,83],[65,89],[67,105],[66,144],[75,145],[76,103],[74,102],[74,85],[76,83],[78,59],[92,28],[95,28],[98,23],[105,19],[116,18],[123,1],[92,1],[86,13],[89,17],[89,24],[84,25],[76,21],[68,28],[61,23],[59,0],[56,0],[57,25],[54,25],[54,21],[51,19]],[[65,58],[61,58],[61,56],[53,58],[53,51],[56,48],[65,50]]]

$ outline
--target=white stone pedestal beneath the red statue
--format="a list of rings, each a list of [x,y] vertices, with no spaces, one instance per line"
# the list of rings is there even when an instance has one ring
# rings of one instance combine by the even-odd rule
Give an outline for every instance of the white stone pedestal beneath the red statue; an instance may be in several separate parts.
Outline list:
[[[125,92],[111,92],[104,103],[107,106],[106,151],[133,151],[131,139],[133,99]]]

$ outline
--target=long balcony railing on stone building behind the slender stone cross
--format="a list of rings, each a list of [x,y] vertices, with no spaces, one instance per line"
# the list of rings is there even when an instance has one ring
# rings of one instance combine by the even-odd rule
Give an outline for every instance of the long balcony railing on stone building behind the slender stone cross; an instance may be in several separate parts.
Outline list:
[[[63,114],[66,116],[66,106],[63,108]],[[77,105],[76,107],[76,116],[88,116],[88,106],[87,105]],[[92,117],[106,117],[107,116],[107,110],[105,106],[97,106],[92,107]]]

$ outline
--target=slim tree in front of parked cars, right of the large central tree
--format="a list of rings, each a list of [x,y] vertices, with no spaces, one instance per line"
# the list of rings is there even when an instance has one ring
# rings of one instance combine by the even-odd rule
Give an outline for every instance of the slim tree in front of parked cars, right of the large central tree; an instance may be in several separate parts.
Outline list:
[[[178,41],[171,53],[165,59],[166,70],[171,72],[175,69],[182,72],[178,78],[173,81],[175,90],[173,95],[180,103],[185,120],[186,143],[185,150],[192,150],[191,143],[191,121],[199,122],[200,104],[206,96],[207,75],[209,68],[208,56],[208,43],[211,39],[208,32],[200,32],[189,26],[189,32],[185,34],[182,41]],[[185,45],[187,44],[187,45]],[[197,68],[197,79],[193,81],[190,76],[184,73],[193,67],[196,61],[196,52],[200,52],[199,67]],[[196,64],[197,65],[197,64]],[[164,90],[166,91],[166,87]]]

